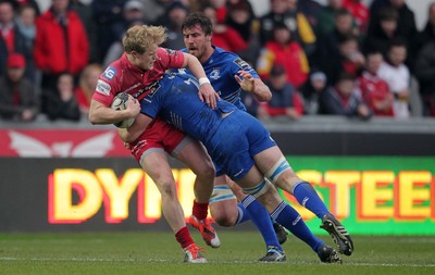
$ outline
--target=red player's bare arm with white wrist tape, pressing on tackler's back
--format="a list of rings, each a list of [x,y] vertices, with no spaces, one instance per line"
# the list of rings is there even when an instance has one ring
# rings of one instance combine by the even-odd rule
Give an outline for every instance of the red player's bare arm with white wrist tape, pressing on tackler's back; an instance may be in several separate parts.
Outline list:
[[[184,63],[183,67],[188,67],[189,71],[195,75],[195,77],[199,82],[199,91],[198,96],[199,99],[211,107],[212,109],[216,108],[216,100],[219,100],[219,95],[217,92],[213,89],[213,87],[210,84],[209,78],[207,77],[207,74],[199,62],[199,60],[186,52],[183,52],[184,54]]]

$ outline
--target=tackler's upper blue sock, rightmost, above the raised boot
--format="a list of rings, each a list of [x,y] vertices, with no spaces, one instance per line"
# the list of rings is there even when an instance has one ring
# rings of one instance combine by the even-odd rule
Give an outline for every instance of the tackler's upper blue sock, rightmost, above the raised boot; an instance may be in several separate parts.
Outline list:
[[[330,213],[325,203],[309,183],[297,183],[293,189],[293,195],[302,207],[313,212],[318,217],[322,218]]]

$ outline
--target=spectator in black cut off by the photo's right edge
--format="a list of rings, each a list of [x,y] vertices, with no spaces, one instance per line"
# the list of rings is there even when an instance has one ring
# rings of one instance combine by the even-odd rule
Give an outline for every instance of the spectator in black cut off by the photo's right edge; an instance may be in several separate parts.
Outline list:
[[[423,115],[435,116],[435,38],[417,55],[414,73],[420,84]]]

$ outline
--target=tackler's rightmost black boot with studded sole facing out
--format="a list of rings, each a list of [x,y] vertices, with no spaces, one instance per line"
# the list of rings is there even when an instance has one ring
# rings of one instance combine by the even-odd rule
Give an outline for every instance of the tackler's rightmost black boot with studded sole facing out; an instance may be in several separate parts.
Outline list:
[[[322,218],[320,228],[325,229],[333,238],[338,251],[345,255],[351,255],[353,252],[353,241],[346,228],[332,214],[325,214]]]

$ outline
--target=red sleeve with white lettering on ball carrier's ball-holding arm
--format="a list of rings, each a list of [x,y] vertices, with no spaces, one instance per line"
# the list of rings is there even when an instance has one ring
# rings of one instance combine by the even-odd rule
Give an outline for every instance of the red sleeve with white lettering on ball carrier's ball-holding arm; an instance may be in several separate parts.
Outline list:
[[[114,66],[105,68],[98,78],[95,92],[92,93],[92,100],[96,100],[105,107],[112,104],[113,98],[117,92],[120,92],[117,74],[119,72]]]

